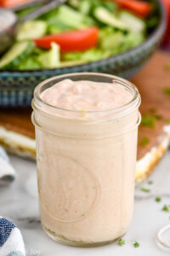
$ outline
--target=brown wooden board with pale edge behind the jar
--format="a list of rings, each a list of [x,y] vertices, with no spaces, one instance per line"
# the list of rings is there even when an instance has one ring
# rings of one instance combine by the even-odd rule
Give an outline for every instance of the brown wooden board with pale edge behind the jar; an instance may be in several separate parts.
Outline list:
[[[133,79],[142,97],[136,180],[142,181],[165,154],[170,141],[170,55],[157,52]],[[144,125],[146,123],[146,125]],[[155,126],[155,127],[153,127]],[[16,154],[35,158],[31,108],[0,108],[0,143]]]

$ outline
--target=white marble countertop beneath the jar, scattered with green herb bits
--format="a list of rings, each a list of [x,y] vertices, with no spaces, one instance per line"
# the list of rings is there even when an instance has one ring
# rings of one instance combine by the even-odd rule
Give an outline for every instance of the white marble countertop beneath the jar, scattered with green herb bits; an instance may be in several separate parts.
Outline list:
[[[48,238],[42,230],[38,212],[36,164],[31,160],[10,156],[17,171],[17,178],[8,187],[0,188],[0,214],[17,224],[26,243],[26,255],[41,256],[163,256],[170,251],[162,249],[156,243],[157,231],[170,224],[170,212],[163,212],[164,205],[170,205],[170,151],[156,168],[148,181],[135,189],[133,221],[123,237],[123,247],[113,243],[104,247],[80,248],[58,244]],[[150,189],[144,193],[140,187]],[[156,202],[156,196],[161,202]],[[170,233],[168,234],[170,241]],[[138,248],[133,241],[139,241]]]

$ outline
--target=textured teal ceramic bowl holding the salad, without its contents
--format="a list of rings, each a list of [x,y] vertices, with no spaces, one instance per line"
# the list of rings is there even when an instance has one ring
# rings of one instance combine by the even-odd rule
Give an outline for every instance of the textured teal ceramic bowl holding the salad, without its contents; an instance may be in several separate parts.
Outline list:
[[[102,61],[87,64],[62,67],[57,69],[41,69],[29,71],[0,71],[0,107],[30,106],[33,90],[42,82],[53,76],[65,73],[95,72],[111,73],[124,79],[129,79],[155,52],[160,44],[166,27],[166,12],[160,0],[152,0],[157,6],[160,22],[150,36],[138,47],[119,55],[113,55]]]

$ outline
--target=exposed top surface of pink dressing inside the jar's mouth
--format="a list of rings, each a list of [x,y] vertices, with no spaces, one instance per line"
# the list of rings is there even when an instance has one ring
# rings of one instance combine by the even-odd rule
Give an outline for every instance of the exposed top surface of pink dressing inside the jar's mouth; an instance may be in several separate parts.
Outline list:
[[[41,97],[49,105],[76,111],[119,108],[132,100],[132,95],[122,86],[70,79],[44,90]]]

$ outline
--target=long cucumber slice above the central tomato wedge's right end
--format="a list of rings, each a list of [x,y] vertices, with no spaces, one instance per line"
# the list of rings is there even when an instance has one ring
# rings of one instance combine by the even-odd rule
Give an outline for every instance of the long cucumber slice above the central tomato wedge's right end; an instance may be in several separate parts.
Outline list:
[[[94,17],[106,25],[110,25],[121,30],[128,30],[128,26],[124,21],[119,20],[115,15],[112,15],[111,12],[109,12],[104,7],[98,7],[94,9]]]

